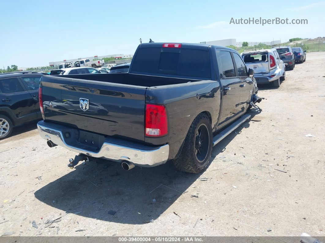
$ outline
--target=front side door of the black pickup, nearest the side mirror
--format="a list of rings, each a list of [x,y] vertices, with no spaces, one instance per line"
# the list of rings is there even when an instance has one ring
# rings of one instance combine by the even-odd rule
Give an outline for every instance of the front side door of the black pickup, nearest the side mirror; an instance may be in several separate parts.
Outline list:
[[[251,96],[253,93],[253,80],[248,77],[246,66],[241,57],[235,52],[232,52],[232,55],[235,60],[236,75],[240,82],[238,112],[243,113],[247,110],[247,107],[251,102]]]

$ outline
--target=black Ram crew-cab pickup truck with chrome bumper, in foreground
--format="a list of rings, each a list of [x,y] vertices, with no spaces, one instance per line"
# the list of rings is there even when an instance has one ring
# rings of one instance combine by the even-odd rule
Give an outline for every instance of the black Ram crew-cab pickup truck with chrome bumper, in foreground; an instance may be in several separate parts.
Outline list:
[[[199,173],[212,147],[250,115],[261,99],[253,70],[233,49],[188,43],[142,43],[128,73],[43,76],[42,138],[129,170],[173,160]]]

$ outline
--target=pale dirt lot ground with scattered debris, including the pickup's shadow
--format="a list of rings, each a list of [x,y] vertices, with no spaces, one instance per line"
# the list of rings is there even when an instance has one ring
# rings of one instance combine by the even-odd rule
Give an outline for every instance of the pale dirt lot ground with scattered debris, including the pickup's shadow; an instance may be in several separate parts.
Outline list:
[[[103,160],[71,170],[74,152],[48,148],[36,123],[20,127],[0,141],[0,234],[325,236],[324,75],[325,53],[307,53],[280,88],[259,87],[263,112],[214,147],[201,175]]]

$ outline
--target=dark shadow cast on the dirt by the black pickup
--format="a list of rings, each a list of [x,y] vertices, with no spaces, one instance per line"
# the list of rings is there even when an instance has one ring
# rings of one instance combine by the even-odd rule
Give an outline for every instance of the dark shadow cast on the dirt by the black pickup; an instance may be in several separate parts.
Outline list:
[[[252,119],[258,113],[250,114]],[[249,120],[236,129],[237,133],[232,132],[213,148],[210,164],[219,153],[225,152],[228,143],[243,127],[249,127]],[[34,195],[54,208],[84,217],[145,224],[157,219],[182,194],[190,200],[187,190],[199,177],[200,174],[176,170],[172,162],[125,171],[119,163],[96,159],[76,166]]]

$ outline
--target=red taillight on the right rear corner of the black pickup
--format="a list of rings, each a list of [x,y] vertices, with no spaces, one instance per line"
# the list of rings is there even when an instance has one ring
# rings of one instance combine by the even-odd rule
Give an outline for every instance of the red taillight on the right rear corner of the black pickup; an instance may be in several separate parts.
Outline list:
[[[168,133],[166,107],[161,104],[146,104],[145,135],[162,137]]]

